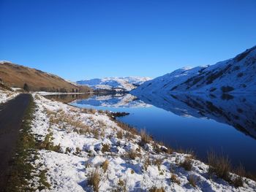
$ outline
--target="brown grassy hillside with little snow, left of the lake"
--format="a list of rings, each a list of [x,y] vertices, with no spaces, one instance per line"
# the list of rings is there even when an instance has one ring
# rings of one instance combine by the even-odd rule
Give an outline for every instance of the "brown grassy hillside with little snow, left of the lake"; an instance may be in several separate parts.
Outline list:
[[[0,80],[10,87],[23,88],[26,83],[30,91],[52,92],[89,92],[86,86],[73,85],[54,74],[48,74],[37,69],[12,64],[7,61],[0,62]]]

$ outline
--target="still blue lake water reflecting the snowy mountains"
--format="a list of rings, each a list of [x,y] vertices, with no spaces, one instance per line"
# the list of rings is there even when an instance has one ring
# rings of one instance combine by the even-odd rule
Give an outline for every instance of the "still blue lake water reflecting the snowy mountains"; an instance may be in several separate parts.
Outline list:
[[[256,95],[170,95],[138,99],[130,94],[91,96],[69,104],[97,110],[129,112],[119,118],[145,128],[154,139],[175,149],[228,155],[231,163],[256,172]]]

